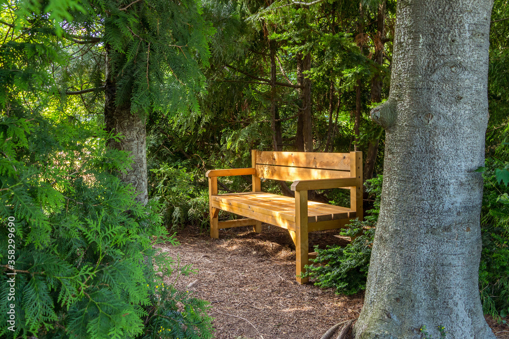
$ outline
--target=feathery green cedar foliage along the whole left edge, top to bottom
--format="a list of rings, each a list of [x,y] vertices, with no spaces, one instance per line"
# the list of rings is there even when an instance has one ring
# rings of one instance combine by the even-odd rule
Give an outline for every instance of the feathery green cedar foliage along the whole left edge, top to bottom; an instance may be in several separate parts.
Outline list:
[[[0,321],[7,324],[10,304],[16,318],[14,331],[2,326],[0,335],[210,338],[208,303],[162,283],[193,270],[154,250],[154,243],[177,242],[157,202],[136,202],[117,177],[130,156],[106,145],[119,136],[90,114],[97,104],[60,95],[63,81],[76,79],[65,76],[75,51],[62,48],[76,39],[66,30],[72,16],[46,13],[61,5],[87,4],[2,4],[10,15],[0,28],[0,221],[14,221],[0,228],[0,246],[8,248],[12,232],[15,255],[3,251],[0,260],[14,260],[16,275],[14,296],[0,289]],[[13,270],[1,267],[0,284],[8,286],[5,272]]]

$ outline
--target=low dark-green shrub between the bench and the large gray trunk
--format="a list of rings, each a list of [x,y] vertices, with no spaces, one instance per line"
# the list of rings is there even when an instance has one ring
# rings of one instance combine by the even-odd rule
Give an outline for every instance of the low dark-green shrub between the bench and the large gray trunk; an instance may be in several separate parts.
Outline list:
[[[353,238],[345,247],[327,246],[321,250],[315,247],[317,258],[306,265],[306,273],[322,288],[334,288],[336,293],[354,294],[366,288],[371,248],[375,236],[375,225],[380,212],[382,176],[366,180],[366,191],[374,199],[373,209],[366,212],[364,221],[354,220],[341,232]]]

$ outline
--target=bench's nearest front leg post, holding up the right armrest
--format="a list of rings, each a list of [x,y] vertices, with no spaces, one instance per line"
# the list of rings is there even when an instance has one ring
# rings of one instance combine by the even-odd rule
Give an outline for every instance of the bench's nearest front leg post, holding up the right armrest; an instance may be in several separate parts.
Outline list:
[[[304,273],[307,265],[308,239],[307,239],[307,191],[295,191],[295,264],[297,281],[305,284],[308,278],[301,278],[300,274]]]

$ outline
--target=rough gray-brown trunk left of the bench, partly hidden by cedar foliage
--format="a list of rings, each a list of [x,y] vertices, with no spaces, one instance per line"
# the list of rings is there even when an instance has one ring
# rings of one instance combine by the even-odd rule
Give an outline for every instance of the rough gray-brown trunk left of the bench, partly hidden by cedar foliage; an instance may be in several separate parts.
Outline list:
[[[114,135],[120,134],[122,139],[109,140],[107,146],[111,149],[124,150],[131,155],[133,159],[131,168],[125,173],[119,173],[119,178],[134,187],[138,194],[136,200],[145,205],[148,202],[145,120],[138,114],[131,113],[130,102],[121,106],[116,105],[116,83],[111,74],[108,50],[106,46],[104,122],[107,132],[112,132]]]

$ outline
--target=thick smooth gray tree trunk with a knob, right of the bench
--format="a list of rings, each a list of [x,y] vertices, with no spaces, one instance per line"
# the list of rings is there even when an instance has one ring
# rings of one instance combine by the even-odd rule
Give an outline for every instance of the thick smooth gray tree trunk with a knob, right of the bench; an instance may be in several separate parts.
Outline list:
[[[492,0],[399,0],[382,202],[355,338],[494,338],[478,290]]]

